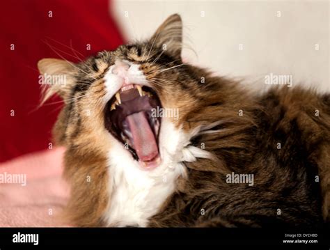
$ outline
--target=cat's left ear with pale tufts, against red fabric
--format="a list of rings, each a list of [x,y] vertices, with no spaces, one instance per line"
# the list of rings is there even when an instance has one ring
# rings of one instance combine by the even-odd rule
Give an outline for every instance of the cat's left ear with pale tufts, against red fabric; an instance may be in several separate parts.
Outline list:
[[[55,58],[44,58],[38,61],[40,72],[39,84],[42,85],[41,104],[54,94],[67,100],[74,84],[74,63]]]

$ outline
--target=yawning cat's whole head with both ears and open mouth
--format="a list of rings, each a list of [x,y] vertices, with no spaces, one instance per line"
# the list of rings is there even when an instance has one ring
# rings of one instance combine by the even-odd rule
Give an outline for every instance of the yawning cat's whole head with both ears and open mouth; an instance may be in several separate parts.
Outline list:
[[[149,170],[164,161],[194,159],[184,148],[196,127],[207,123],[206,115],[201,119],[203,102],[219,100],[212,97],[212,84],[203,86],[205,71],[182,62],[181,49],[182,21],[171,15],[145,42],[77,64],[39,61],[40,72],[57,79],[45,100],[56,93],[65,103],[54,129],[56,141],[81,155],[116,148],[113,157]]]

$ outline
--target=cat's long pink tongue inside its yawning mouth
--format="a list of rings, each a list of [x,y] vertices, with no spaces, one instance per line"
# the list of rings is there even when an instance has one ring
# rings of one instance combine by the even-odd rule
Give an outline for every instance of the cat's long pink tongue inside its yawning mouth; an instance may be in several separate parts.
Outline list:
[[[132,133],[134,149],[142,162],[148,162],[157,157],[158,148],[155,135],[146,118],[146,113],[141,111],[126,118],[129,130]]]

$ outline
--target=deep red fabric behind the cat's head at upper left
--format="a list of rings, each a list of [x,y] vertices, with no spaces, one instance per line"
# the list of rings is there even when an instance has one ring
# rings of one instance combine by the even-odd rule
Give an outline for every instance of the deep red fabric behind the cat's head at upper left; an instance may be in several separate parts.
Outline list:
[[[67,1],[33,0],[1,2],[0,59],[0,162],[24,153],[48,148],[51,130],[61,104],[40,109],[40,85],[37,62],[41,58],[70,61],[70,46],[90,56],[102,49],[114,49],[123,42],[110,15],[108,0]],[[52,11],[52,17],[49,17]],[[10,45],[15,50],[10,50]],[[91,45],[91,50],[86,45]],[[73,55],[73,56],[72,56]],[[79,55],[79,54],[78,54]],[[80,55],[79,55],[80,56]],[[82,56],[81,56],[82,57]],[[10,111],[15,116],[10,116]]]

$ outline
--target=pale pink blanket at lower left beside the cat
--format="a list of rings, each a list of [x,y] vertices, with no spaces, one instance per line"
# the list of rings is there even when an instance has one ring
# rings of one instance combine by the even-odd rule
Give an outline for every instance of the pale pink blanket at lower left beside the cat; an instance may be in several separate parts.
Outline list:
[[[63,151],[54,148],[0,164],[0,227],[67,226],[57,218],[69,192],[61,177]]]

